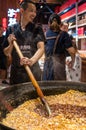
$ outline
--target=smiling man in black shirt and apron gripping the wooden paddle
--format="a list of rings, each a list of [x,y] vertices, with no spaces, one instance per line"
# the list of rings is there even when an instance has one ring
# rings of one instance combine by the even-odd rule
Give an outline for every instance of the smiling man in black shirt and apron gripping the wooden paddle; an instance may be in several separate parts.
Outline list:
[[[36,17],[36,6],[31,0],[23,0],[20,3],[20,21],[9,27],[5,40],[5,55],[12,56],[10,84],[18,84],[30,81],[22,65],[29,65],[36,80],[41,80],[41,70],[38,64],[39,58],[44,53],[44,33],[42,27],[33,21]],[[8,40],[7,40],[8,39]],[[19,56],[13,47],[16,40],[24,57]]]

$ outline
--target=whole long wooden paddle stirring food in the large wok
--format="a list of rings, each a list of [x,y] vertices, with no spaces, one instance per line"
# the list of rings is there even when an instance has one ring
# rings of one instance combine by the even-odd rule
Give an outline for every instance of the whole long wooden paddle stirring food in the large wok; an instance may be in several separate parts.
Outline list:
[[[17,44],[16,41],[13,41],[13,45],[14,45],[14,47],[15,47],[15,49],[16,49],[16,51],[17,51],[19,57],[20,57],[20,59],[23,58],[23,54],[22,54],[21,50],[19,49],[19,46],[18,46],[18,44]],[[28,65],[24,65],[24,67],[25,67],[25,70],[26,70],[28,76],[30,77],[30,79],[31,79],[31,81],[32,81],[32,83],[33,83],[33,86],[35,87],[35,89],[36,89],[36,91],[37,91],[37,93],[38,93],[38,95],[39,95],[39,97],[40,97],[40,99],[41,99],[43,105],[45,106],[48,115],[51,115],[51,110],[50,110],[50,108],[49,108],[48,103],[47,103],[46,100],[44,99],[44,95],[43,95],[42,90],[40,89],[40,87],[39,87],[39,85],[38,85],[38,82],[36,81],[34,75],[32,74],[32,72],[31,72],[29,66],[28,66]]]

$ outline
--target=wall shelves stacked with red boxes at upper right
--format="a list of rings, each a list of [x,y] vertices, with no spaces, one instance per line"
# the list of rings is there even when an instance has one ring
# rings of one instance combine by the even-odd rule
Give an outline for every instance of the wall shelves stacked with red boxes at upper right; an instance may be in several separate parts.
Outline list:
[[[69,32],[76,39],[76,42],[78,41],[78,49],[86,50],[86,47],[85,48],[83,47],[86,46],[86,0],[79,0],[77,5],[78,5],[77,23],[76,23],[76,3],[73,3],[73,5],[71,5],[70,7],[64,9],[62,12],[59,13],[59,15],[61,16],[63,22],[65,21],[69,23]]]

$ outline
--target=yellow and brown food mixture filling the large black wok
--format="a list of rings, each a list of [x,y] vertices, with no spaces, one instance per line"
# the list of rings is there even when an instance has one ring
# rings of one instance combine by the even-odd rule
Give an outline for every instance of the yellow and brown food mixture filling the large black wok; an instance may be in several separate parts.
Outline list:
[[[16,130],[85,130],[86,93],[75,90],[46,97],[52,115],[48,117],[39,99],[26,101],[3,119]]]

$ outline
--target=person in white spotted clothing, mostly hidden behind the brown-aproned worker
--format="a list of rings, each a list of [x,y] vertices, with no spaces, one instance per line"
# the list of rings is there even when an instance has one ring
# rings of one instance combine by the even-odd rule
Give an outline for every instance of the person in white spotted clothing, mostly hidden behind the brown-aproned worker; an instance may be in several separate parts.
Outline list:
[[[61,30],[62,31],[66,31],[68,32],[68,23],[61,23]],[[81,81],[81,58],[76,46],[76,41],[73,38],[72,35],[70,35],[70,39],[72,40],[72,45],[76,50],[76,54],[75,54],[75,62],[73,67],[69,66],[69,63],[71,62],[71,56],[69,53],[66,53],[66,80],[67,81]]]

